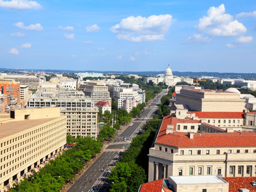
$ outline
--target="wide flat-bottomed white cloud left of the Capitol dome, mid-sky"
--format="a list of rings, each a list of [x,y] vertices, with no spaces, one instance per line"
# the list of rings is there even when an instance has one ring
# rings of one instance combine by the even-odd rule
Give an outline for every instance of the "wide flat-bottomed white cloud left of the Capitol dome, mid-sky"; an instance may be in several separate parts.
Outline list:
[[[117,34],[118,40],[132,42],[164,40],[164,34],[168,32],[171,21],[170,14],[151,15],[148,18],[130,16],[112,26],[110,31]]]

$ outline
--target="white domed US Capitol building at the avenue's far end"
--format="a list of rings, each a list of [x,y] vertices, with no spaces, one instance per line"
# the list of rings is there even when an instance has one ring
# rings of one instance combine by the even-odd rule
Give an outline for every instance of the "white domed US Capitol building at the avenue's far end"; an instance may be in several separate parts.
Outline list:
[[[157,77],[144,77],[143,80],[145,83],[148,83],[151,80],[154,84],[163,82],[168,86],[175,86],[178,82],[187,82],[188,84],[193,84],[193,79],[191,78],[174,77],[169,65],[164,75],[160,74]]]

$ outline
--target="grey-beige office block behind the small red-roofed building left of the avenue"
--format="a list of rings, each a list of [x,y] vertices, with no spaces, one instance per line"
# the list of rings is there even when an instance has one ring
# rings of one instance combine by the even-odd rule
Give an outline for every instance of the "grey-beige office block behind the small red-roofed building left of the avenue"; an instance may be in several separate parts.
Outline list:
[[[107,101],[111,106],[110,93],[108,92],[108,87],[102,82],[88,82],[87,84],[80,85],[85,96],[90,97],[94,104],[99,101]]]

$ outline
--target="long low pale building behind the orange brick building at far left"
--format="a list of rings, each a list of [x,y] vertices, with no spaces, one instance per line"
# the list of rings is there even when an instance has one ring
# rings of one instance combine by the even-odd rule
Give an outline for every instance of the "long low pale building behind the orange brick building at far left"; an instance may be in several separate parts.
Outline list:
[[[26,76],[26,75],[4,75],[0,76],[0,81],[16,81],[20,82],[21,85],[28,85],[28,89],[36,90],[41,84],[40,78],[37,76]]]

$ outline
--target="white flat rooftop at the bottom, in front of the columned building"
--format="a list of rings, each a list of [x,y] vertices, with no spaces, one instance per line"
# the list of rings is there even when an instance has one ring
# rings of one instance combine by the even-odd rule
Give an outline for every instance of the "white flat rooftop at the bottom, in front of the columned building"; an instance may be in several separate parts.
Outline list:
[[[225,180],[215,176],[169,176],[176,184],[216,184],[228,183]]]

